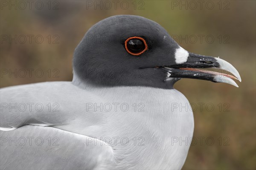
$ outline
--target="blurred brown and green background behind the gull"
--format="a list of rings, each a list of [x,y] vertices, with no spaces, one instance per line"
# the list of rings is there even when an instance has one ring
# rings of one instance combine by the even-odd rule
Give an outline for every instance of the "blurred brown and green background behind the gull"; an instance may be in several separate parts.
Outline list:
[[[230,62],[242,78],[239,88],[195,79],[175,84],[197,106],[195,140],[183,169],[256,168],[256,1],[23,2],[1,1],[1,88],[71,81],[73,51],[93,24],[116,14],[140,15],[163,26],[186,50]],[[15,69],[17,77],[9,75]],[[31,75],[27,69],[34,69]]]

